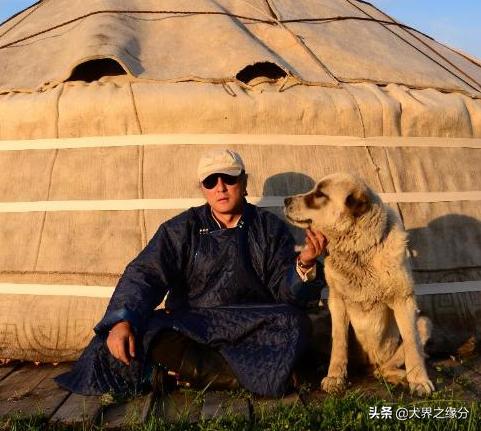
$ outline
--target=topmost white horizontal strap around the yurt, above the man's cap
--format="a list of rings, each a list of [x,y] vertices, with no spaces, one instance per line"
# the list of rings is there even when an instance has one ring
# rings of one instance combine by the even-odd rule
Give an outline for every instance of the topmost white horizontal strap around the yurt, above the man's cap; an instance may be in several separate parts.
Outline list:
[[[139,145],[287,145],[332,147],[481,148],[480,138],[415,138],[324,135],[248,135],[167,133],[158,135],[95,136],[83,138],[0,140],[1,151],[104,148]]]

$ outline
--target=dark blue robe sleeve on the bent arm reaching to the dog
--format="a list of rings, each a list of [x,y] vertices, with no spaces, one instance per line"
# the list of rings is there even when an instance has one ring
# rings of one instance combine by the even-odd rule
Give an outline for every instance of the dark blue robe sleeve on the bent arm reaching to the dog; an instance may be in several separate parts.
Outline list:
[[[297,253],[289,228],[279,220],[270,230],[267,234],[267,280],[274,298],[303,308],[317,305],[325,287],[322,265],[317,263],[314,280],[303,281],[296,271]]]

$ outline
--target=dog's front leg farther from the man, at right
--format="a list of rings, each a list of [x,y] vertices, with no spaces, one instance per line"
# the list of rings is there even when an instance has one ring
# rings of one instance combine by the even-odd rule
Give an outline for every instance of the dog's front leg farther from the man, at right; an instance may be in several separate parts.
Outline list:
[[[406,378],[411,392],[429,395],[434,385],[429,380],[424,364],[424,355],[417,331],[417,306],[413,296],[399,300],[393,306],[394,317],[401,333],[404,346]]]

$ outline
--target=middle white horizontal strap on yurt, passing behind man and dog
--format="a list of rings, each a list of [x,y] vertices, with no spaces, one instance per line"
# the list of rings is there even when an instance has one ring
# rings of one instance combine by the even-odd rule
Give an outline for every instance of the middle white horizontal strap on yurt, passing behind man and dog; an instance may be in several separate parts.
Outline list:
[[[386,203],[432,203],[481,200],[481,191],[379,193],[379,195]],[[284,206],[284,196],[248,196],[247,200],[250,203],[264,208]],[[203,198],[1,202],[0,213],[170,210],[187,209],[204,203],[205,200]]]

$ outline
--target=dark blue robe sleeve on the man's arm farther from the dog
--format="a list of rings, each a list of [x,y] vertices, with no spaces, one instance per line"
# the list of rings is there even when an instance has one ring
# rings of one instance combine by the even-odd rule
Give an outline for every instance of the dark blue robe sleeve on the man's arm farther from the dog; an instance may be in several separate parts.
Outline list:
[[[177,235],[172,238],[165,224],[161,225],[147,246],[127,265],[103,319],[94,328],[98,335],[105,334],[121,320],[128,321],[134,332],[142,331],[155,307],[179,278],[183,243],[182,238],[176,237],[179,230],[182,231],[177,227]]]

